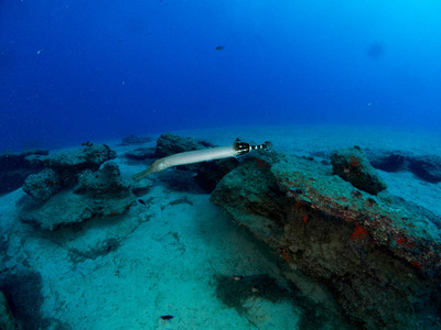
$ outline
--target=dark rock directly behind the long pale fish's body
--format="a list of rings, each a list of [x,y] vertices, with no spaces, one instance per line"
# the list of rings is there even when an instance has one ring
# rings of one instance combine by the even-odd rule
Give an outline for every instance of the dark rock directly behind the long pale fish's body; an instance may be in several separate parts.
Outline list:
[[[233,142],[232,142],[233,143]],[[213,146],[208,143],[197,142],[191,138],[181,138],[171,133],[162,134],[157,142],[155,155],[165,157],[175,153],[201,150]],[[236,158],[226,158],[181,166],[184,169],[197,173],[195,182],[207,193],[212,193],[225,174],[238,165]]]

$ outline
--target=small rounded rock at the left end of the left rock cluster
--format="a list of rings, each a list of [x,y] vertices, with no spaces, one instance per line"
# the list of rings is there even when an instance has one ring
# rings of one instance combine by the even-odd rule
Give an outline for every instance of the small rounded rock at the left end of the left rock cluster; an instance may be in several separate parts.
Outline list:
[[[37,174],[31,174],[24,182],[23,190],[37,201],[45,201],[61,190],[60,176],[46,168]]]

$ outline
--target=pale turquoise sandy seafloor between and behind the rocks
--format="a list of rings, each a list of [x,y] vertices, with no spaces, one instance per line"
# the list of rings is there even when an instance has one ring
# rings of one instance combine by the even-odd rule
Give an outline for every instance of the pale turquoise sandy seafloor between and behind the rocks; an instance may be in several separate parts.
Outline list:
[[[172,133],[218,145],[230,144],[237,136],[255,143],[269,140],[277,151],[299,155],[354,144],[441,154],[441,134],[421,131],[232,127]],[[118,153],[116,162],[123,176],[144,168],[121,156],[139,145],[103,142]],[[144,144],[154,145],[154,141]],[[390,194],[441,215],[441,184],[424,183],[407,172],[379,173]],[[41,273],[43,317],[57,319],[66,329],[298,329],[300,324],[308,329],[298,301],[271,302],[251,297],[245,302],[245,314],[220,301],[216,296],[216,272],[269,274],[283,283],[281,262],[213,205],[190,175],[169,169],[151,179],[152,188],[141,196],[148,206],[138,205],[120,218],[94,220],[75,235],[68,230],[42,233],[21,223],[17,217],[18,201],[24,195],[21,189],[0,197],[3,240],[8,240],[9,251],[17,251],[2,268],[30,267]],[[87,246],[95,249],[111,238],[119,242],[117,248],[95,258],[72,253],[87,251]],[[297,280],[316,304],[333,308],[319,285]],[[174,318],[162,320],[164,315]]]

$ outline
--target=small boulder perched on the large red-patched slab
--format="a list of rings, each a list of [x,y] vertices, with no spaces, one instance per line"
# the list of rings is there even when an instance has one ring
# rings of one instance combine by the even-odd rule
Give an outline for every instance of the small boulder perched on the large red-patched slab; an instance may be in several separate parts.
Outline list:
[[[387,188],[359,146],[334,151],[331,164],[336,175],[363,191],[377,195]]]

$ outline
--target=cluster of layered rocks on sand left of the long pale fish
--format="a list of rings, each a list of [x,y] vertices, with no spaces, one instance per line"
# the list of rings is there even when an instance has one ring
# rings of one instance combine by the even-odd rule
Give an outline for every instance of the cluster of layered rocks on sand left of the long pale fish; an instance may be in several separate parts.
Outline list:
[[[44,230],[57,230],[93,218],[121,216],[136,204],[136,193],[150,182],[129,184],[112,162],[116,153],[105,144],[32,156],[45,168],[30,175],[23,190],[20,219]]]

